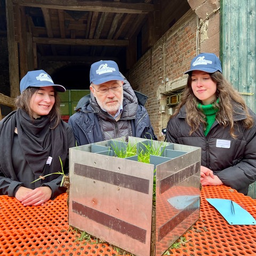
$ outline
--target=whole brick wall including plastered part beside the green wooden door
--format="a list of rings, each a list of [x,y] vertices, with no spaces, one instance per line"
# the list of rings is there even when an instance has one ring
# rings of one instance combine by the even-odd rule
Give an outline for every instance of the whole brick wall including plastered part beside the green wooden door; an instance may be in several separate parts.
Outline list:
[[[160,104],[172,92],[173,84],[186,85],[190,61],[200,52],[219,55],[220,15],[219,0],[188,0],[191,9],[135,63],[126,74],[134,90],[148,95],[146,108],[158,140],[164,140],[162,129],[169,120],[165,106]]]

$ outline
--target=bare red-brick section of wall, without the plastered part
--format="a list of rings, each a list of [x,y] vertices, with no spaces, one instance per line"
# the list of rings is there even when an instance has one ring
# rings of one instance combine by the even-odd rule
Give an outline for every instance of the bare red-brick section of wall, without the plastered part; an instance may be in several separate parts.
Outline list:
[[[134,90],[148,96],[146,108],[158,140],[164,140],[162,129],[170,116],[167,106],[161,114],[159,102],[165,102],[166,95],[160,92],[188,69],[196,54],[196,28],[196,14],[190,11],[143,55],[126,77]]]

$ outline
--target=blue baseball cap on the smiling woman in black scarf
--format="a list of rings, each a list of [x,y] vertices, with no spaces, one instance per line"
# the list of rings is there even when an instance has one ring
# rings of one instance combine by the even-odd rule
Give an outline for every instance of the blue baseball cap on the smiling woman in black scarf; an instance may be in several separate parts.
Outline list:
[[[56,91],[65,92],[64,86],[59,84],[54,84],[52,78],[44,70],[33,70],[28,71],[28,73],[23,76],[20,81],[20,93],[25,91],[28,87],[44,87],[44,86],[54,86]]]

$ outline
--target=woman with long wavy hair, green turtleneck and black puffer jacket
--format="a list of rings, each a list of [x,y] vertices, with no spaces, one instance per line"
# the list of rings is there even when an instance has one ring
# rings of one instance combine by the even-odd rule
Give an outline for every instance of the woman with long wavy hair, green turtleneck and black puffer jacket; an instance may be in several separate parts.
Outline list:
[[[213,53],[200,53],[166,129],[166,141],[202,148],[201,183],[247,195],[256,180],[256,116],[223,77]]]

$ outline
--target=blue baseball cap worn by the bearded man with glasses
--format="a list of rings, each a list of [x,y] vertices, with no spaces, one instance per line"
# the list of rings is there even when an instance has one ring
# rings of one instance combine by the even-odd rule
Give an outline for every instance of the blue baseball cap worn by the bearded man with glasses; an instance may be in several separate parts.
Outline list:
[[[102,84],[111,80],[124,81],[117,63],[113,60],[101,60],[91,65],[90,83]]]

